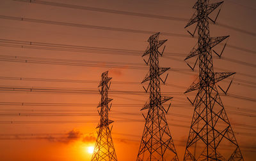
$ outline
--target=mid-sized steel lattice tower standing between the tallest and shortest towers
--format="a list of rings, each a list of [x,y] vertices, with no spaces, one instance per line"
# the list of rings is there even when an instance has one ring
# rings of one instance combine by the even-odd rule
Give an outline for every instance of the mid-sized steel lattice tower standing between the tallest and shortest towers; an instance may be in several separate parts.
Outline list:
[[[158,40],[159,32],[153,34],[148,39],[149,47],[142,55],[149,55],[146,64],[150,66],[150,71],[141,83],[149,81],[147,87],[150,89],[149,102],[143,106],[143,109],[148,109],[147,118],[144,116],[146,122],[143,131],[143,136],[140,143],[140,150],[137,160],[179,160],[173,144],[173,139],[166,121],[165,114],[168,113],[169,107],[166,109],[163,103],[172,99],[172,97],[161,96],[160,90],[160,75],[170,69],[170,67],[159,67],[158,48],[162,46],[166,40]],[[167,78],[167,76],[166,76]],[[165,80],[166,80],[165,78]],[[163,83],[165,83],[165,80]],[[143,87],[144,88],[144,87]],[[146,90],[146,88],[144,88]],[[147,92],[146,90],[146,92]]]

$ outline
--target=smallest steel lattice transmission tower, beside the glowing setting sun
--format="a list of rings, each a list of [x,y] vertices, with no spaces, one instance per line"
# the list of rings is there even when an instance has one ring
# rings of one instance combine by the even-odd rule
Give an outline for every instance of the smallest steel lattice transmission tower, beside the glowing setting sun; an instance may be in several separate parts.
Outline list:
[[[92,155],[92,161],[116,161],[116,152],[111,137],[111,129],[109,129],[109,124],[113,123],[112,120],[108,119],[108,111],[110,111],[111,105],[108,106],[109,102],[113,99],[109,99],[108,90],[110,87],[109,81],[111,78],[108,77],[108,71],[102,73],[101,81],[99,85],[99,92],[101,94],[101,101],[99,102],[98,113],[100,115],[100,123],[97,126],[99,132],[97,132],[97,140],[95,143],[95,148]]]

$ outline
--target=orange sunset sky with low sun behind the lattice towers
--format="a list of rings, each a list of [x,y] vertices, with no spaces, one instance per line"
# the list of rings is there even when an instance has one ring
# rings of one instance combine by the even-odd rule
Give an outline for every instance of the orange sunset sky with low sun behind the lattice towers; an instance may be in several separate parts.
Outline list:
[[[168,39],[159,64],[171,69],[161,91],[173,97],[166,117],[183,160],[194,110],[186,97],[195,97],[184,92],[198,76],[198,66],[191,71],[184,61],[197,41],[184,27],[196,1],[32,1],[0,1],[1,160],[91,160],[104,71],[112,77],[117,158],[136,160],[149,96],[140,83],[149,71],[141,55],[154,32]],[[255,0],[225,0],[210,25],[212,37],[230,35],[221,59],[214,55],[214,71],[236,72],[218,85],[225,90],[233,80],[227,95],[219,92],[246,161],[256,158],[255,15]]]

